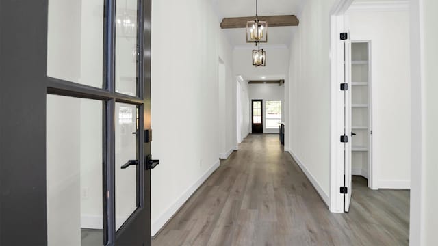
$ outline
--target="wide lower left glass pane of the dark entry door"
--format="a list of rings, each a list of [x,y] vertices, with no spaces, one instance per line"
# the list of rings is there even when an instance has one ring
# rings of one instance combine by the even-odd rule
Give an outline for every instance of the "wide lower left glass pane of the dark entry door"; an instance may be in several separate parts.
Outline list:
[[[47,245],[103,245],[102,102],[47,95]]]

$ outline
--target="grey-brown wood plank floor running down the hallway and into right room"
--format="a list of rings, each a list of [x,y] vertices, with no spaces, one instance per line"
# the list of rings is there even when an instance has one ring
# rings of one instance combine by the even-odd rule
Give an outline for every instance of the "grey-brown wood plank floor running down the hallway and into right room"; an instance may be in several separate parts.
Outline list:
[[[153,240],[161,245],[409,245],[409,191],[353,177],[333,214],[278,135],[249,135]]]

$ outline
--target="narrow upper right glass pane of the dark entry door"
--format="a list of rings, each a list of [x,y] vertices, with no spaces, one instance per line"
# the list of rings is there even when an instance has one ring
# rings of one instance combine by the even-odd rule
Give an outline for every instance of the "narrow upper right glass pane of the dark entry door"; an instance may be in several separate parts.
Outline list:
[[[116,92],[137,95],[137,1],[116,1]]]

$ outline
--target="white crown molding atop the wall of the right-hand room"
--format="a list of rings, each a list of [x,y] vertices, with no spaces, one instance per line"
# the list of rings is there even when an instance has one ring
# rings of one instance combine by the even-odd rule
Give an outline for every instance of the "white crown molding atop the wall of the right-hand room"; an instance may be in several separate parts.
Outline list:
[[[409,0],[353,2],[347,12],[409,10]]]

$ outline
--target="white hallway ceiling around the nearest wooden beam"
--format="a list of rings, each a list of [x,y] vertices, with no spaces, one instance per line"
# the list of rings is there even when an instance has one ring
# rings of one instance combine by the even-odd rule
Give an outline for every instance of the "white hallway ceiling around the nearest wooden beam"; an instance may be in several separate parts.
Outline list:
[[[219,17],[255,16],[255,0],[213,0]],[[258,0],[259,16],[298,14],[305,0]],[[263,45],[289,46],[292,38],[292,29],[296,27],[269,27],[268,43]],[[232,46],[253,46],[246,43],[246,30],[223,29]]]

